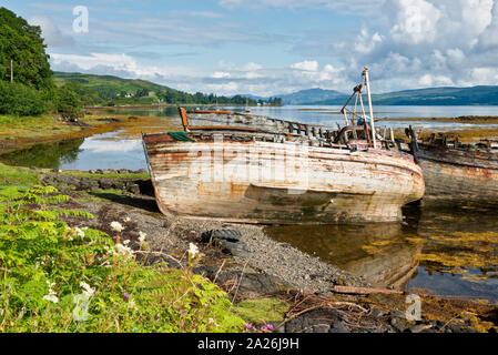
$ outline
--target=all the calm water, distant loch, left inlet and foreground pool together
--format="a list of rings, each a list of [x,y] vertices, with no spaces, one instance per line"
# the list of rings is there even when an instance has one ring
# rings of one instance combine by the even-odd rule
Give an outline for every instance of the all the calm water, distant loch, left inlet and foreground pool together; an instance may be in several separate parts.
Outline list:
[[[255,114],[329,126],[344,124],[338,110],[339,106],[252,108]],[[141,132],[181,130],[176,109],[120,110],[119,113],[149,115],[150,119],[126,123],[115,132],[35,145],[2,155],[0,160],[24,166],[70,170],[146,169]],[[374,113],[376,118],[498,115],[498,106],[376,106]],[[378,125],[387,124],[453,129],[471,125],[433,121],[389,121]],[[407,206],[404,215],[403,224],[273,226],[266,231],[273,239],[363,275],[375,285],[498,302],[496,210]]]

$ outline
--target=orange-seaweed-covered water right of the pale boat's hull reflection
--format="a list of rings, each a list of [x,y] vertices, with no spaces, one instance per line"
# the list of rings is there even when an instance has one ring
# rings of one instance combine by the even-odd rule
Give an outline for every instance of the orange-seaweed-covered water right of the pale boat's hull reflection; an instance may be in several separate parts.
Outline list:
[[[408,288],[498,301],[497,210],[476,206],[421,209],[415,243],[420,270]]]

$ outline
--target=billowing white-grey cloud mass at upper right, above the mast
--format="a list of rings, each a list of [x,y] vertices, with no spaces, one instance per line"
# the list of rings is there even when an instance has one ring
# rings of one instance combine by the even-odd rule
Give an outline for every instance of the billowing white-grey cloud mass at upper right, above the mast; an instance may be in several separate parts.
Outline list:
[[[386,0],[374,18],[341,40],[314,32],[294,51],[334,58],[349,81],[368,65],[376,92],[496,84],[498,0]]]

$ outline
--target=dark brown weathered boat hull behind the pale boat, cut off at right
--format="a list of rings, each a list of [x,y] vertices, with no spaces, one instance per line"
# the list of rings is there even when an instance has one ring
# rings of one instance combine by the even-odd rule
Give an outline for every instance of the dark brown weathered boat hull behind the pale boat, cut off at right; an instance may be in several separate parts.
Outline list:
[[[498,204],[498,146],[490,141],[463,144],[431,134],[419,141],[410,126],[410,150],[426,184],[425,202]]]

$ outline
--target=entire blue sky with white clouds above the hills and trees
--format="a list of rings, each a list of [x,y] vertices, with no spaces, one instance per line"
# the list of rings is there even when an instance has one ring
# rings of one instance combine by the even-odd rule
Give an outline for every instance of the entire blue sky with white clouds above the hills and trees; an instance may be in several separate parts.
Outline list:
[[[54,71],[140,78],[191,93],[350,92],[365,65],[374,93],[498,81],[498,0],[0,0],[0,6],[41,27]]]

